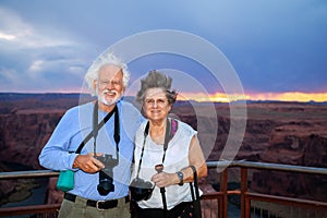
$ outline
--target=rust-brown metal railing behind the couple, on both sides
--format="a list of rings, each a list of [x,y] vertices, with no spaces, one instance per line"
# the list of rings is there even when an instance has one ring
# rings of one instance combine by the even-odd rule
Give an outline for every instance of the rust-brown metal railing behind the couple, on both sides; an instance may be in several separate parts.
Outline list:
[[[239,217],[327,217],[327,199],[324,202],[299,199],[295,197],[276,196],[255,193],[249,189],[249,170],[284,171],[288,173],[306,173],[327,177],[326,168],[300,167],[278,164],[264,164],[251,161],[208,161],[209,169],[217,169],[220,174],[220,187],[217,192],[204,193],[202,196],[203,217],[227,218],[229,216],[228,197],[237,195],[240,197]],[[228,171],[232,168],[240,169],[240,189],[228,190]],[[29,178],[58,177],[58,172],[51,170],[0,172],[1,180],[16,180]],[[271,206],[271,205],[277,205]],[[276,213],[276,208],[283,208],[284,214]],[[33,217],[56,217],[59,204],[33,205],[23,207],[0,208],[0,216],[33,215]],[[272,208],[272,209],[271,209]],[[25,217],[26,217],[25,216]]]

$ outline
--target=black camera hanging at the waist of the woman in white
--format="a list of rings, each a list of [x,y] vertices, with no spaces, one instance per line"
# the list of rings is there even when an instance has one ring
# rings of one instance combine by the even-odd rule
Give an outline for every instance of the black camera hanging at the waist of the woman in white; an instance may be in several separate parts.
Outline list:
[[[153,194],[154,185],[153,183],[144,181],[141,178],[135,178],[130,184],[130,191],[132,199],[136,202],[142,199],[147,201]]]

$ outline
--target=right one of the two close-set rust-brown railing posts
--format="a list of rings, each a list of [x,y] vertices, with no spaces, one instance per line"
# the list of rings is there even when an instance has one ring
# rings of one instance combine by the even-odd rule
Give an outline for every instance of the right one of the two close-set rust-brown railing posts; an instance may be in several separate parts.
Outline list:
[[[241,217],[249,218],[251,216],[251,203],[246,197],[247,193],[247,168],[241,168]]]

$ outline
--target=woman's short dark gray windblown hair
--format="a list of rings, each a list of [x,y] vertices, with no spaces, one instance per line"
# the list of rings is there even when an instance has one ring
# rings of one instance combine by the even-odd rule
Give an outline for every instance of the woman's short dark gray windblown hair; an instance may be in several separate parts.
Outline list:
[[[166,92],[168,102],[173,105],[178,94],[175,90],[170,90],[171,82],[170,76],[166,76],[156,70],[150,71],[145,78],[141,80],[141,89],[137,92],[136,101],[143,105],[147,89],[162,88]]]

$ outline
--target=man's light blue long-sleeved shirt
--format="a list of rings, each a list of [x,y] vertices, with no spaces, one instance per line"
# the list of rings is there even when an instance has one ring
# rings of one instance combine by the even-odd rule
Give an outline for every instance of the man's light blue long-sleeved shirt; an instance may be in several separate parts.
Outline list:
[[[117,104],[120,118],[120,143],[119,165],[113,168],[114,192],[102,196],[97,191],[99,173],[86,173],[80,169],[75,170],[75,185],[70,193],[94,201],[106,201],[124,197],[129,194],[131,162],[134,150],[134,136],[144,118],[140,111],[130,102],[120,100]],[[69,109],[61,118],[48,143],[39,156],[43,167],[52,170],[72,169],[77,154],[74,152],[85,136],[93,130],[94,104],[76,106]],[[107,113],[99,110],[98,120]],[[114,114],[99,130],[97,136],[97,153],[104,153],[117,157],[116,142],[113,140]],[[73,153],[72,153],[73,152]],[[94,138],[89,140],[81,154],[94,152]]]

